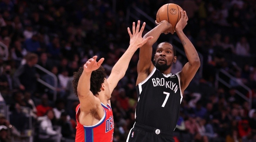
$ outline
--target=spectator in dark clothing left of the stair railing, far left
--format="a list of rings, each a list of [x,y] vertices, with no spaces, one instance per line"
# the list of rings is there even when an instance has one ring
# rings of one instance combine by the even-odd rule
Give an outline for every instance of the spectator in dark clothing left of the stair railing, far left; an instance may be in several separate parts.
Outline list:
[[[32,94],[36,91],[37,72],[35,64],[37,64],[38,56],[29,53],[26,57],[26,64],[21,65],[13,75],[13,81],[17,88],[22,91],[29,91]]]

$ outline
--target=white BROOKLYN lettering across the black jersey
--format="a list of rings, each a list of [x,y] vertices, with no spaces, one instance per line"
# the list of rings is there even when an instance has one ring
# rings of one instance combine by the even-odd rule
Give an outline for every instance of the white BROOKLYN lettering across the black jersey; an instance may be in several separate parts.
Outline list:
[[[165,86],[166,88],[170,88],[175,93],[179,89],[179,84],[173,83],[172,81],[165,81],[164,78],[152,78],[153,86]]]

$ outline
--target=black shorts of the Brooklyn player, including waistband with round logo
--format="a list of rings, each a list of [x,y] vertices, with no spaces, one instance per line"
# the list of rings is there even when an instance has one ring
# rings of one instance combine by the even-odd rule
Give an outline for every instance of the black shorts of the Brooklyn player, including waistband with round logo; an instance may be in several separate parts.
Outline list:
[[[126,142],[174,142],[173,133],[135,122]]]

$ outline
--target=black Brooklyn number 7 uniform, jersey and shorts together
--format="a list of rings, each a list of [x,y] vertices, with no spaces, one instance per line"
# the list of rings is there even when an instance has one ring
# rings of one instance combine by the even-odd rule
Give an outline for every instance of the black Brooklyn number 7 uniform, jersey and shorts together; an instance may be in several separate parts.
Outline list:
[[[174,141],[172,132],[179,118],[182,100],[179,74],[164,75],[154,67],[136,90],[136,122],[127,142]]]

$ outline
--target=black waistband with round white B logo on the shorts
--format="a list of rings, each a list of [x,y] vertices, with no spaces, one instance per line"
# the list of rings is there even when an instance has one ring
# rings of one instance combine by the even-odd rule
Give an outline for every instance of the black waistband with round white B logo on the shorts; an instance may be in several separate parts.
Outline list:
[[[147,131],[147,132],[153,132],[155,134],[157,134],[157,130],[159,130],[158,134],[160,134],[160,135],[173,136],[173,132],[171,132],[171,131],[164,131],[164,130],[157,129],[157,128],[154,128],[154,127],[150,127],[148,125],[137,123],[137,122],[135,122],[134,127],[138,128],[140,130]]]

